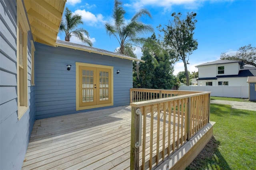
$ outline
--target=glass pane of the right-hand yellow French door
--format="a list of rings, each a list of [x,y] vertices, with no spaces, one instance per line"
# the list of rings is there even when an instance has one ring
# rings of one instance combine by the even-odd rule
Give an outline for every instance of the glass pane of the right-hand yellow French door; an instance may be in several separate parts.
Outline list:
[[[99,99],[108,100],[108,72],[100,71],[100,94]]]

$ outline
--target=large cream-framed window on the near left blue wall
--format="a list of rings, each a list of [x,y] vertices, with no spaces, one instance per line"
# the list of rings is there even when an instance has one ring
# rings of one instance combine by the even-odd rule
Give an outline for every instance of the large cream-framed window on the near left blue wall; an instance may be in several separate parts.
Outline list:
[[[28,21],[22,1],[17,1],[17,97],[18,120],[28,109]]]

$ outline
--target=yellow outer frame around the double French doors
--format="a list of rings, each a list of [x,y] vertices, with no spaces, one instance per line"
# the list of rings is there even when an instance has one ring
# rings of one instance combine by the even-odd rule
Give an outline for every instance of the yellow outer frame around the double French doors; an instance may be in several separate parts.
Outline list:
[[[79,66],[87,66],[87,67],[96,67],[96,68],[108,68],[111,70],[111,102],[107,104],[99,104],[93,106],[80,106],[80,98],[79,98]],[[92,109],[98,107],[106,107],[114,105],[114,67],[113,66],[105,66],[99,64],[89,64],[89,63],[80,63],[76,62],[76,111],[84,110],[84,109]]]

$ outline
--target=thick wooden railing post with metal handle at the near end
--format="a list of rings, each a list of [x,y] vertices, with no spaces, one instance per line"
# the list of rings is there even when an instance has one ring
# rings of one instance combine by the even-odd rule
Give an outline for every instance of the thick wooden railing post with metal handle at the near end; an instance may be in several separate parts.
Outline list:
[[[132,107],[132,122],[131,122],[131,153],[130,153],[130,169],[139,169],[139,153],[140,147],[135,147],[135,143],[140,139],[140,116],[136,114],[139,107]]]

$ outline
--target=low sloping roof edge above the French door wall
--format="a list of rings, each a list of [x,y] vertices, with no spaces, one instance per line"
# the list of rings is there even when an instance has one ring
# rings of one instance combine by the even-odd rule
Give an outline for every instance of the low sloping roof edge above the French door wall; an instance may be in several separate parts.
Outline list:
[[[89,53],[107,55],[107,56],[117,57],[117,58],[121,58],[121,59],[140,61],[142,63],[145,63],[144,60],[136,59],[136,58],[130,57],[128,55],[123,55],[123,54],[120,54],[120,53],[115,53],[115,52],[106,51],[106,50],[103,50],[103,49],[89,47],[89,46],[82,45],[82,44],[71,43],[71,42],[68,42],[68,41],[56,40],[56,46],[57,47],[58,46],[66,47],[66,48],[76,49],[76,50],[81,50],[81,51],[87,51]]]

